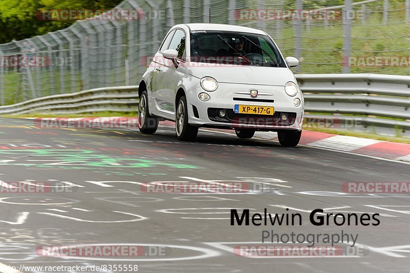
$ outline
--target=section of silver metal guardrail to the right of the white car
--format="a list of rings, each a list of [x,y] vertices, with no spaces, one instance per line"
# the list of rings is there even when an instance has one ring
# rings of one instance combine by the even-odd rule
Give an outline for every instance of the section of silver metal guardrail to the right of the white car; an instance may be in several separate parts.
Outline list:
[[[410,137],[410,76],[296,75],[308,125]]]

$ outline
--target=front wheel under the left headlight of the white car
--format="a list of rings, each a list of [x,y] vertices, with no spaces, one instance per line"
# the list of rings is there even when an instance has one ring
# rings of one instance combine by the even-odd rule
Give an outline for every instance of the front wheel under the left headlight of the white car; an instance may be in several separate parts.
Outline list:
[[[193,141],[198,135],[198,127],[188,123],[188,103],[185,96],[181,96],[176,104],[175,132],[181,141]]]

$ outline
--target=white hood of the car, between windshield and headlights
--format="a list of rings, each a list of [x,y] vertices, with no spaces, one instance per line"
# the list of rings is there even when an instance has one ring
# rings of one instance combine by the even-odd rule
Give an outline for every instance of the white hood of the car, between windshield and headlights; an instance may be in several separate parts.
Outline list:
[[[288,68],[256,66],[218,66],[188,67],[188,74],[202,78],[213,77],[217,82],[245,83],[250,85],[284,86],[288,81],[295,81],[295,76]],[[203,64],[205,65],[205,64]]]

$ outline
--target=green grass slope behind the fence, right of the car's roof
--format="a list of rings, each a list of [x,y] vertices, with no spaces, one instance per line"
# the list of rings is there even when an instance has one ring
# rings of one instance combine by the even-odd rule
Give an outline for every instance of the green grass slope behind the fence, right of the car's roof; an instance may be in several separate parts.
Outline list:
[[[404,8],[404,4],[397,7],[397,9],[400,8]],[[310,30],[302,26],[302,59],[299,67],[301,73],[342,72],[343,26],[341,23],[341,20],[330,21],[330,25],[325,28],[323,22],[313,21],[311,24],[321,25],[312,25]],[[293,56],[295,33],[292,22],[282,22],[282,28],[279,32],[277,32],[275,24],[276,22],[267,23],[268,33],[275,39],[285,57]],[[331,26],[331,24],[339,25]],[[409,25],[405,23],[404,11],[392,12],[389,15],[388,24],[397,25],[372,26],[383,24],[382,13],[373,13],[366,19],[365,25],[371,26],[360,26],[362,25],[361,19],[354,20],[353,24],[356,26],[352,26],[352,52],[349,54],[350,56],[408,56]],[[308,64],[308,62],[322,64]],[[351,66],[351,73],[408,75],[409,71],[408,66]]]

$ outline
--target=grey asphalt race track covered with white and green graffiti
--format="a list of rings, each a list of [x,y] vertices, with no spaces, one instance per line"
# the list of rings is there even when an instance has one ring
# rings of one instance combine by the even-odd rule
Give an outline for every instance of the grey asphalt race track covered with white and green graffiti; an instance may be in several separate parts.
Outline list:
[[[308,146],[283,148],[273,141],[206,130],[200,130],[196,142],[180,142],[167,127],[147,136],[40,129],[32,120],[2,118],[0,136],[0,180],[71,185],[61,192],[0,193],[0,262],[6,265],[138,265],[140,272],[410,271],[410,196],[342,191],[344,182],[408,181],[408,164]],[[145,192],[146,183],[158,181],[236,181],[250,188],[262,185],[263,191]],[[268,219],[267,226],[231,226],[231,208],[239,213],[250,209],[251,216],[263,215],[264,208],[271,214],[299,213],[302,225],[272,226]],[[309,215],[316,208],[346,215],[378,213],[380,224],[337,226],[330,217],[329,226],[315,226]],[[240,246],[261,245],[263,230],[305,236],[343,230],[357,235],[361,247],[355,249],[365,251],[326,258],[238,255]],[[84,244],[144,246],[146,252],[139,257],[50,257],[36,251]],[[349,249],[346,242],[337,245]]]

